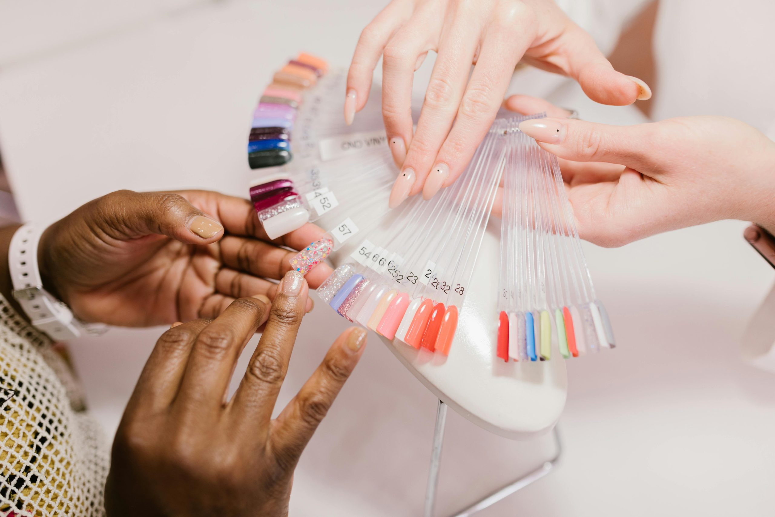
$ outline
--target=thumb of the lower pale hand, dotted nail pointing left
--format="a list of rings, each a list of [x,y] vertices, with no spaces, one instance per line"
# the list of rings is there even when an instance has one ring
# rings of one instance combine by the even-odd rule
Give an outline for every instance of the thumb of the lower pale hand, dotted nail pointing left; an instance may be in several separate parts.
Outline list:
[[[544,150],[573,161],[602,161],[641,170],[646,164],[651,124],[608,126],[584,120],[529,119],[519,129],[532,136]]]

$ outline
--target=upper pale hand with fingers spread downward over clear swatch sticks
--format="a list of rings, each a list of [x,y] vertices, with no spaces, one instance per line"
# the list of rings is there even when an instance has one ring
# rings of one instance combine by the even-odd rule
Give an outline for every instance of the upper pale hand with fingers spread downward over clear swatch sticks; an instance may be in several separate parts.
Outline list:
[[[412,134],[412,78],[429,50],[438,57]],[[615,71],[551,0],[393,0],[360,35],[347,77],[346,122],[366,105],[380,57],[387,139],[402,164],[391,207],[420,191],[429,199],[460,176],[520,60],[576,79],[604,104],[651,95],[643,81]]]

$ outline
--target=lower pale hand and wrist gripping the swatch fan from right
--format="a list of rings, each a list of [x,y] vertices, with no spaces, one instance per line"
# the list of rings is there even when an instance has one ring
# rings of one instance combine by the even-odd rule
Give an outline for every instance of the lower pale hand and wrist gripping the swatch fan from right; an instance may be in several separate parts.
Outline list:
[[[775,229],[775,143],[743,122],[695,116],[606,126],[522,95],[506,106],[553,115],[519,129],[560,157],[582,239],[622,246],[719,219]]]

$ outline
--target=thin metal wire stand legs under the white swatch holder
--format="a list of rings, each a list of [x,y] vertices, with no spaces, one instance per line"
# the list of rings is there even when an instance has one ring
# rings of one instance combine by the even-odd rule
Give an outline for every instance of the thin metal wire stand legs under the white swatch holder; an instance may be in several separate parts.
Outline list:
[[[441,464],[441,447],[444,441],[444,424],[446,423],[446,404],[439,400],[439,406],[436,409],[436,429],[433,432],[433,448],[431,452],[431,465],[428,471],[428,488],[425,490],[425,513],[424,517],[433,517],[433,510],[436,506],[436,488],[439,484],[439,467]],[[480,510],[484,510],[488,506],[494,505],[496,502],[503,498],[507,498],[515,491],[522,490],[534,481],[538,481],[542,477],[546,476],[556,467],[557,462],[560,460],[560,455],[563,453],[563,444],[560,442],[560,433],[557,431],[557,426],[554,426],[552,431],[554,436],[554,443],[556,446],[556,453],[550,460],[546,460],[540,467],[530,471],[522,477],[518,477],[514,481],[505,484],[498,490],[492,492],[490,495],[484,496],[479,501],[476,501],[468,508],[461,510],[449,517],[468,517],[474,515]]]

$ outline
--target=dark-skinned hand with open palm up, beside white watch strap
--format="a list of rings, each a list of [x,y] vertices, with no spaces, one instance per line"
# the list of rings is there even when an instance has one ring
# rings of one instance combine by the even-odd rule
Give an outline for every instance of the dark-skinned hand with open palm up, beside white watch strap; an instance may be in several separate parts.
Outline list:
[[[308,224],[270,241],[250,201],[209,191],[117,191],[43,233],[44,287],[88,322],[152,326],[214,318],[235,298],[267,295],[290,258],[323,231]],[[331,273],[307,275],[317,288]],[[308,302],[312,308],[312,300]]]

